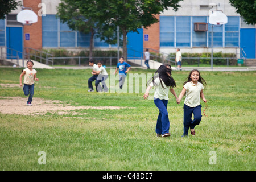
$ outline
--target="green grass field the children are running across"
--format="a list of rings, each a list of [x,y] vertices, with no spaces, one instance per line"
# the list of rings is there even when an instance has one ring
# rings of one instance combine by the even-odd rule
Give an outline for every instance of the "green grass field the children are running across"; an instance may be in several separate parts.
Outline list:
[[[183,134],[183,104],[170,93],[171,137],[155,134],[158,109],[143,93],[87,92],[90,69],[36,69],[34,97],[73,106],[121,106],[119,110],[80,109],[72,115],[0,113],[0,170],[255,170],[256,72],[201,72],[209,110],[196,135]],[[110,69],[107,69],[110,73]],[[19,84],[20,68],[0,68],[0,84]],[[154,73],[131,69],[129,73]],[[173,71],[177,95],[188,71]],[[110,79],[110,78],[109,78]],[[126,78],[129,80],[129,76]],[[115,80],[118,84],[118,80]],[[139,84],[143,90],[146,85]],[[129,85],[130,86],[130,85]],[[1,97],[26,97],[18,87]],[[152,93],[151,93],[152,96]],[[1,99],[0,99],[1,103]],[[202,109],[205,104],[201,101]],[[1,104],[0,104],[1,105]],[[26,103],[24,103],[25,107]],[[33,106],[32,106],[33,107]],[[85,114],[86,113],[86,114]],[[39,164],[44,151],[46,164]]]

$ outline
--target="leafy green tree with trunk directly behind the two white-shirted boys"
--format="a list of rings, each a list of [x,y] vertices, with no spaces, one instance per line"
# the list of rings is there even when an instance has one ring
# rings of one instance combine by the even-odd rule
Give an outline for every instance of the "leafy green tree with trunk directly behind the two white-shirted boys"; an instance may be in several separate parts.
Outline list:
[[[57,7],[57,16],[62,23],[67,23],[72,30],[90,34],[89,57],[93,56],[93,38],[100,37],[107,43],[115,43],[113,24],[106,27],[99,19],[104,18],[100,12],[101,1],[92,0],[61,0]]]

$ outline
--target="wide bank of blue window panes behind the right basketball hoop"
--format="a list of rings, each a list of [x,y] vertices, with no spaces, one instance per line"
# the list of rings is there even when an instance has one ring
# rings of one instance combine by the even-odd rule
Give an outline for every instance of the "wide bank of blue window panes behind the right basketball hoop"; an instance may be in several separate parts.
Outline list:
[[[160,47],[211,47],[212,28],[194,31],[194,23],[208,23],[208,16],[160,16]],[[239,47],[240,16],[213,27],[213,47]],[[207,40],[208,39],[208,40]]]

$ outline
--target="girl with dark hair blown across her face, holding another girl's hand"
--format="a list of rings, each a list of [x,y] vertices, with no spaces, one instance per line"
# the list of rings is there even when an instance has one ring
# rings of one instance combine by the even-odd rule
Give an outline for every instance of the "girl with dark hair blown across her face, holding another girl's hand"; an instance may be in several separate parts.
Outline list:
[[[151,83],[147,86],[146,92],[143,95],[144,99],[147,99],[150,89],[155,87],[154,102],[156,107],[159,109],[159,115],[155,127],[157,137],[168,137],[171,135],[169,133],[170,121],[167,112],[169,90],[176,98],[177,104],[180,104],[179,98],[174,90],[176,82],[174,81],[174,78],[171,77],[171,71],[171,65],[161,65],[155,72],[155,76],[147,82],[147,84]]]

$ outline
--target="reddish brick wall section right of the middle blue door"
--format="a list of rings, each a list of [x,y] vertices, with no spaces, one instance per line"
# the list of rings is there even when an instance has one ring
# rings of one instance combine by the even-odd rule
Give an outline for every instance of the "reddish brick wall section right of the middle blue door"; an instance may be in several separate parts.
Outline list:
[[[159,20],[160,15],[156,15]],[[148,34],[148,41],[144,40],[144,35]],[[159,51],[160,49],[160,24],[154,23],[150,27],[143,28],[143,48],[151,48]]]

